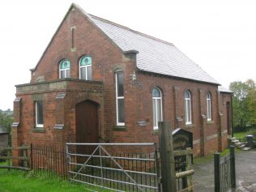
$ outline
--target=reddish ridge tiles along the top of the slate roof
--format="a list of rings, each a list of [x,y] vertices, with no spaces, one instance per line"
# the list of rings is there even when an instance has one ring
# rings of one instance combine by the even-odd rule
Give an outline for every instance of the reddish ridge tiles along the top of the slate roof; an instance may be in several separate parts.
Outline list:
[[[121,25],[121,24],[118,24],[118,23],[114,23],[113,21],[110,21],[110,20],[108,20],[108,19],[103,19],[103,18],[101,18],[101,17],[98,17],[98,16],[96,16],[96,15],[92,15],[92,14],[88,14],[88,15],[90,15],[90,16],[91,16],[92,18],[94,18],[94,19],[101,20],[101,21],[103,21],[103,22],[105,22],[105,23],[113,24],[113,25],[115,25],[115,26],[117,26],[117,27],[119,27],[119,28],[124,28],[124,29],[126,29],[126,30],[129,30],[130,32],[137,33],[137,34],[139,34],[139,35],[141,35],[141,36],[146,36],[147,38],[150,38],[150,39],[152,39],[152,40],[160,41],[160,42],[165,43],[165,44],[168,44],[168,45],[173,45],[173,43],[170,43],[170,42],[168,42],[168,41],[161,40],[161,39],[159,39],[159,38],[156,38],[155,36],[147,35],[147,34],[145,34],[145,33],[143,33],[143,32],[135,31],[134,29],[128,28],[128,27],[126,27],[126,26],[124,26],[124,25]],[[175,45],[173,45],[173,46],[175,46]]]

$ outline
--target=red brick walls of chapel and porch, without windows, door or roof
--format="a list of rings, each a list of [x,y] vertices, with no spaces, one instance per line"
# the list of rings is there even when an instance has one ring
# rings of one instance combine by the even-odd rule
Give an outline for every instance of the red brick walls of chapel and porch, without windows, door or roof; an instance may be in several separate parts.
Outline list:
[[[79,79],[79,59],[83,55],[92,58],[92,81]],[[12,144],[75,142],[75,109],[84,100],[97,104],[98,142],[158,143],[158,131],[153,130],[152,122],[152,89],[158,87],[164,121],[170,121],[173,130],[181,128],[193,133],[195,156],[224,150],[231,134],[228,115],[229,121],[231,116],[227,110],[231,93],[218,91],[214,83],[138,70],[136,57],[137,53],[123,53],[83,12],[71,6],[31,70],[30,83],[16,86],[16,97],[20,100],[15,101],[14,113],[19,126],[12,128]],[[59,79],[59,62],[64,58],[70,60],[70,79]],[[120,69],[124,74],[124,128],[117,127],[116,120],[115,71]],[[132,80],[130,75],[134,73],[136,79]],[[186,90],[191,93],[192,104],[189,126],[185,124]],[[211,122],[203,122],[202,116],[207,114],[207,92],[211,93]],[[35,101],[39,99],[44,103],[44,128],[40,131],[35,129]],[[183,121],[178,122],[177,117]],[[139,125],[140,121],[146,122],[145,125]]]

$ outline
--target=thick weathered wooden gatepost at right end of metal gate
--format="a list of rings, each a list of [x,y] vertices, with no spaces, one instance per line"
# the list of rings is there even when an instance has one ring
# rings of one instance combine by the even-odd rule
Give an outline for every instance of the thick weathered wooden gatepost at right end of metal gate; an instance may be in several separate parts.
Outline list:
[[[176,173],[173,154],[173,134],[170,122],[158,122],[161,181],[164,192],[176,192]]]

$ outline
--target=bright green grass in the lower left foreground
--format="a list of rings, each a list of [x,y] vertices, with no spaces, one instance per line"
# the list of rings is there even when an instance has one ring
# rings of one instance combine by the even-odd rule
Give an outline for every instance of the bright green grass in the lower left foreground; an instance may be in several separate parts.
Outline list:
[[[6,164],[6,163],[0,163]],[[96,190],[94,188],[94,190]],[[92,191],[84,185],[73,185],[59,178],[49,178],[19,170],[0,169],[0,192],[83,192]],[[109,191],[109,190],[99,190]]]

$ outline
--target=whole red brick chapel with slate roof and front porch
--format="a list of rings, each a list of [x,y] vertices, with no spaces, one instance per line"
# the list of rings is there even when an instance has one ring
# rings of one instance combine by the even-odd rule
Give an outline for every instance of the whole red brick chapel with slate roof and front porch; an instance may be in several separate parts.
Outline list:
[[[172,43],[72,4],[16,85],[12,144],[151,143],[170,121],[207,155],[227,147],[231,96]]]

